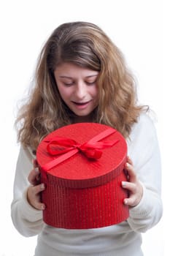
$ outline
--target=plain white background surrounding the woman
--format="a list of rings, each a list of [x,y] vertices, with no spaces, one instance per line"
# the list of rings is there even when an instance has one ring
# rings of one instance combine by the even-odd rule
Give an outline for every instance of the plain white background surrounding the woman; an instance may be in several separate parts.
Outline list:
[[[150,105],[163,164],[161,222],[143,235],[145,256],[170,255],[169,227],[169,7],[163,0],[1,1],[1,245],[0,256],[32,256],[36,238],[23,238],[12,225],[10,203],[19,146],[13,127],[43,43],[64,22],[96,23],[123,51],[139,82],[139,102]],[[163,254],[164,247],[164,254]],[[128,255],[127,255],[128,256]]]

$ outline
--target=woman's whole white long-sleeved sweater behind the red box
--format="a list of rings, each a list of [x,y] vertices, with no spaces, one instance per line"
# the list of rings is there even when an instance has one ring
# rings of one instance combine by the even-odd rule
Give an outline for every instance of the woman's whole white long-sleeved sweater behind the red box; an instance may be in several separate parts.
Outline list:
[[[128,156],[144,189],[140,203],[130,208],[130,217],[118,225],[88,230],[66,230],[46,225],[42,211],[28,204],[26,190],[33,155],[21,146],[15,174],[12,221],[23,236],[38,235],[35,256],[102,255],[142,256],[141,233],[162,216],[161,161],[155,127],[142,114],[132,127]]]

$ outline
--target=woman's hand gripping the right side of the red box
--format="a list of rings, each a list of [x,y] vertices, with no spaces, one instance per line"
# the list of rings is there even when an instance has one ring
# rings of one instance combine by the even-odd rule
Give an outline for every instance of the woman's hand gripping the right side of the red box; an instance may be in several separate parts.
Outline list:
[[[142,199],[143,188],[136,177],[133,163],[129,157],[126,163],[126,170],[128,171],[128,181],[122,181],[122,187],[123,189],[128,189],[129,197],[124,199],[124,203],[127,206],[134,207],[137,206]]]

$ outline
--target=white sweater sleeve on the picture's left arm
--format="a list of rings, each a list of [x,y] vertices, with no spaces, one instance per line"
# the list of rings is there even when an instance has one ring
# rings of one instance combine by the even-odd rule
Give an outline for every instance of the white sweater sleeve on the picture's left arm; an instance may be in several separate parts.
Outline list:
[[[33,208],[27,200],[27,189],[30,185],[28,174],[32,169],[32,159],[30,151],[21,146],[15,172],[11,216],[15,228],[23,236],[35,236],[44,226],[42,211]]]

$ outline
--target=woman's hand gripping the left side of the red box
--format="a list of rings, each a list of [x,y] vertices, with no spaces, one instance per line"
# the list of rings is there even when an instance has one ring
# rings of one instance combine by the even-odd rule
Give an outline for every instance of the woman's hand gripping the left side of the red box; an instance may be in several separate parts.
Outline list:
[[[41,203],[40,196],[40,192],[45,190],[45,184],[40,184],[40,173],[36,160],[34,160],[33,165],[34,169],[31,170],[28,176],[28,181],[31,184],[27,191],[28,203],[37,210],[45,210],[45,204]]]

